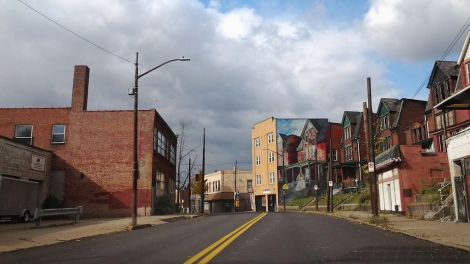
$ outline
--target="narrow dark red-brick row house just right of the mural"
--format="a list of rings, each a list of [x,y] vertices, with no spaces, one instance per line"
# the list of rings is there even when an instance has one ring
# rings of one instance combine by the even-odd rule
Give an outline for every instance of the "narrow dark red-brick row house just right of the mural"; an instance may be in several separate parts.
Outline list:
[[[356,187],[364,180],[362,165],[367,161],[364,125],[362,112],[345,111],[343,113],[340,160],[341,182],[344,188]]]

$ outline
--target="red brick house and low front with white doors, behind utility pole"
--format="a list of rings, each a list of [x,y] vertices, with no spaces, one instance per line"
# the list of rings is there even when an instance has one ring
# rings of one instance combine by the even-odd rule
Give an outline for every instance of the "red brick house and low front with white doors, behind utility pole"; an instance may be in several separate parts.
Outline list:
[[[449,178],[446,156],[416,143],[426,101],[382,98],[374,124],[375,171],[382,211],[406,213],[422,188]],[[422,131],[421,133],[425,133]],[[419,140],[421,142],[423,140]]]

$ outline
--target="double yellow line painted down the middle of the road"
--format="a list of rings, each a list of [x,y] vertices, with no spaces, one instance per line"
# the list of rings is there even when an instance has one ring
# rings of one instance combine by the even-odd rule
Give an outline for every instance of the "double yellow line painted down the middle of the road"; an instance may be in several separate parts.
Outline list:
[[[251,226],[256,224],[261,218],[265,217],[267,213],[261,213],[257,217],[251,219],[250,221],[246,222],[245,224],[241,225],[237,229],[233,230],[232,232],[228,233],[221,239],[214,242],[212,245],[206,247],[201,252],[197,253],[196,255],[192,256],[190,259],[186,260],[184,264],[193,264],[193,263],[209,263],[217,254],[219,254],[222,250],[224,250],[228,245],[230,245],[235,239],[237,239],[241,234],[243,234],[246,230],[248,230]],[[198,261],[199,260],[199,261]]]

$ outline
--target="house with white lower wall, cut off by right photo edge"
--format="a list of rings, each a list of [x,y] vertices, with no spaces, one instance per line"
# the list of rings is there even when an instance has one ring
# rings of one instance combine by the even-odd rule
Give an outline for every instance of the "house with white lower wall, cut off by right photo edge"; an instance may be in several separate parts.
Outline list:
[[[453,120],[444,123],[443,134],[447,138],[448,162],[451,174],[454,210],[457,221],[470,222],[470,32],[467,35],[459,59],[453,70],[458,72],[457,81],[449,94],[433,111],[452,113]],[[430,95],[431,96],[431,95]],[[452,124],[452,125],[451,125]]]

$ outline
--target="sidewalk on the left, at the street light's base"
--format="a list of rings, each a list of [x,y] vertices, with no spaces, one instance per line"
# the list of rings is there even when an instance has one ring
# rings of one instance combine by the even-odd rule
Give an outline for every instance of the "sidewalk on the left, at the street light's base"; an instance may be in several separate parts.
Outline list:
[[[194,218],[196,215],[139,216],[137,227],[165,224],[181,218]],[[41,228],[35,223],[0,224],[0,253],[37,246],[51,245],[69,240],[104,235],[130,230],[131,218],[44,220]]]

